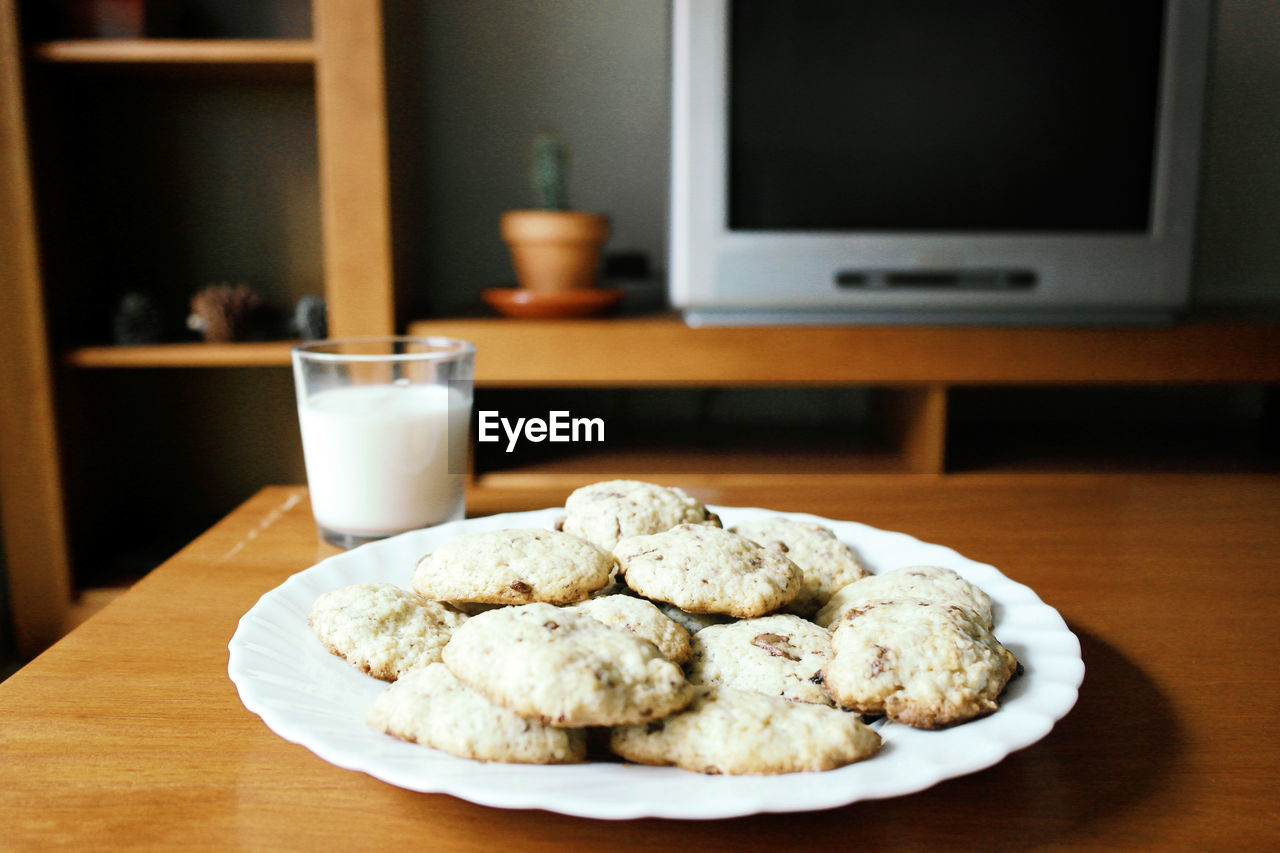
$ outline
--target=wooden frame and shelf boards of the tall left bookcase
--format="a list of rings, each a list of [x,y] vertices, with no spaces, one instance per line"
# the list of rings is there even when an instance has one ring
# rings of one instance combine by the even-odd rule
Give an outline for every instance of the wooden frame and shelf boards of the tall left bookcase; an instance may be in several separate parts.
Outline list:
[[[50,243],[55,237],[45,227],[49,205],[38,197],[32,136],[35,126],[47,124],[60,105],[28,102],[33,76],[70,76],[67,79],[76,87],[170,81],[183,86],[187,81],[198,86],[214,81],[219,87],[246,91],[282,82],[311,87],[323,247],[319,284],[330,333],[387,334],[396,329],[381,3],[312,0],[310,37],[192,35],[197,37],[28,41],[18,0],[0,0],[0,274],[6,283],[0,310],[0,392],[5,398],[0,406],[0,432],[5,435],[0,442],[0,506],[10,610],[24,654],[60,637],[84,611],[68,547],[61,446],[69,420],[77,416],[77,388],[86,384],[83,370],[279,366],[288,364],[289,347],[289,342],[51,343],[56,318],[69,309],[68,300],[50,296],[50,273],[42,264],[61,247]],[[74,193],[78,187],[61,191]],[[114,207],[114,199],[86,204]],[[166,415],[159,407],[152,412],[156,429]]]

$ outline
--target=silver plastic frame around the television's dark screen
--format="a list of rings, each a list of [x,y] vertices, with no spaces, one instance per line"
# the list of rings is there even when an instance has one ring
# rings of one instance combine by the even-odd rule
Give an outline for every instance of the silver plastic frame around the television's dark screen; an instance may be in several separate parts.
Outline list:
[[[1147,232],[804,233],[730,231],[728,0],[675,0],[672,305],[692,325],[1170,321],[1190,293],[1210,5],[1166,5]]]

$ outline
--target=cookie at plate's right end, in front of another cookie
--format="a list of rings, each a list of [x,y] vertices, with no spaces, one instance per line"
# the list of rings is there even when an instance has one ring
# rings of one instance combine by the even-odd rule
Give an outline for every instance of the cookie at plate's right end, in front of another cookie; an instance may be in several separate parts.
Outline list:
[[[854,608],[819,679],[841,706],[940,729],[991,713],[1018,669],[973,611],[919,598]]]

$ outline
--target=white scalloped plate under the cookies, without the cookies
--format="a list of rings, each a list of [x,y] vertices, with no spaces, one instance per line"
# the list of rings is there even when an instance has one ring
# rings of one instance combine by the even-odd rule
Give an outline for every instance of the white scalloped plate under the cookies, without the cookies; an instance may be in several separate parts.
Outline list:
[[[321,593],[355,583],[407,587],[417,560],[463,532],[547,526],[562,510],[512,512],[415,530],[348,551],[301,571],[262,598],[239,621],[229,644],[228,672],[250,711],[282,738],[328,762],[410,790],[445,793],[502,808],[544,808],[598,818],[719,818],[758,812],[832,808],[897,797],[989,767],[1028,747],[1075,704],[1084,678],[1079,640],[1056,610],[995,567],[904,533],[805,514],[710,507],[724,526],[787,515],[827,525],[856,548],[869,570],[940,565],[982,587],[996,603],[996,635],[1021,661],[1000,710],[941,731],[879,725],[876,757],[827,772],[707,776],[672,767],[596,762],[529,766],[484,763],[397,740],[365,726],[365,712],[385,689],[333,654],[307,626]]]

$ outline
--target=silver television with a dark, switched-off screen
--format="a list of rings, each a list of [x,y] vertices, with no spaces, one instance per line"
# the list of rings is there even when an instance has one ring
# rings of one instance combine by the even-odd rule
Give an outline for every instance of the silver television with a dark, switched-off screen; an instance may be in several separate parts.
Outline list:
[[[1189,298],[1208,0],[675,0],[690,324],[1151,324]]]

